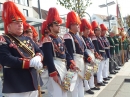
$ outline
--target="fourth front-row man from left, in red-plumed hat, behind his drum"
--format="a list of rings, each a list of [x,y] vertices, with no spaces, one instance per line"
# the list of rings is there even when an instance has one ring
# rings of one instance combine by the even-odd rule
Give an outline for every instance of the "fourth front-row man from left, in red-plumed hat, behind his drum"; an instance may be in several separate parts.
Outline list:
[[[95,55],[96,58],[100,59],[100,56],[96,52],[91,38],[88,37],[90,30],[91,30],[91,24],[86,19],[82,19],[81,24],[80,24],[80,32],[83,32],[82,38],[85,42],[85,45],[86,45],[87,49],[92,51],[92,53]],[[93,72],[91,72],[91,77],[89,80],[84,80],[84,85],[85,85],[86,93],[89,93],[89,94],[94,94],[94,92],[92,90],[100,90],[100,88],[96,87],[94,84]]]

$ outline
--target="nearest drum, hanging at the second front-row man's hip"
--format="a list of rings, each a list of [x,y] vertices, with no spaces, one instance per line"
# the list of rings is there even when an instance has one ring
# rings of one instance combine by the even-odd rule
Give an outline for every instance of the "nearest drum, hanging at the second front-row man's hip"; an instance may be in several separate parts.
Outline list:
[[[76,81],[78,78],[77,72],[68,71],[64,77],[63,88],[67,91],[72,92],[75,88]]]

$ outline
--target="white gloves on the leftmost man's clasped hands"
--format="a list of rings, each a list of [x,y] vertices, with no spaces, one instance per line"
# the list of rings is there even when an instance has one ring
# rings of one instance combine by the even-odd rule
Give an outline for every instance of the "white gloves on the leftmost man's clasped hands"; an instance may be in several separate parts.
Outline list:
[[[30,60],[30,67],[34,67],[35,69],[41,69],[41,56],[35,56]]]

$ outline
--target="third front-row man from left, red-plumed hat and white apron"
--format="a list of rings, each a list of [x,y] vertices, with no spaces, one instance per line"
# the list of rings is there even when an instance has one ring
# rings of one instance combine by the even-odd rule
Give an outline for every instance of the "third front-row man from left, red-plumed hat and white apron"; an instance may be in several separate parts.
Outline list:
[[[69,29],[69,32],[64,35],[65,44],[67,50],[71,57],[75,60],[76,66],[79,67],[81,72],[79,72],[80,77],[76,81],[76,86],[72,91],[72,97],[84,97],[84,60],[91,62],[91,57],[88,56],[88,53],[85,51],[85,46],[82,39],[79,37],[79,25],[81,21],[74,11],[71,11],[67,14],[66,27]],[[84,57],[84,60],[83,60]]]

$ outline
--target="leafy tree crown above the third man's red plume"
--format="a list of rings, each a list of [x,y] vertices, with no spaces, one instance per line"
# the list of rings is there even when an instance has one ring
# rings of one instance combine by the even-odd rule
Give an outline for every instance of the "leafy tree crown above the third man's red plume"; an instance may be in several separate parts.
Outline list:
[[[92,4],[91,0],[57,0],[61,6],[74,10],[80,18],[85,16],[85,10]]]

